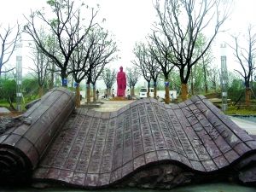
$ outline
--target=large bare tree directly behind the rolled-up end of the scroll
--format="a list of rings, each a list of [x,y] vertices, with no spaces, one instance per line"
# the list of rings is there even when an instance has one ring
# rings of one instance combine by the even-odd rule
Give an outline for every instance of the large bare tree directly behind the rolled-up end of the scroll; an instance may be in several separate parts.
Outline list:
[[[47,15],[49,14],[45,14],[44,9],[32,12],[30,17],[25,16],[27,24],[24,26],[24,32],[31,35],[44,54],[49,56],[51,61],[60,68],[62,85],[67,86],[64,79],[67,79],[68,74],[72,73],[67,72],[70,57],[74,49],[87,37],[91,27],[95,26],[94,19],[97,11],[91,9],[91,15],[87,19],[87,25],[85,25],[83,23],[85,19],[81,17],[81,15],[85,15],[82,12],[82,8],[86,9],[84,3],[80,6],[75,5],[74,0],[49,0],[47,3],[55,17],[48,19]],[[45,27],[48,27],[49,31],[54,34],[61,57],[57,57],[44,46],[44,39],[40,38],[38,34],[38,26],[36,25],[38,19],[43,21]],[[79,38],[77,38],[78,33]]]

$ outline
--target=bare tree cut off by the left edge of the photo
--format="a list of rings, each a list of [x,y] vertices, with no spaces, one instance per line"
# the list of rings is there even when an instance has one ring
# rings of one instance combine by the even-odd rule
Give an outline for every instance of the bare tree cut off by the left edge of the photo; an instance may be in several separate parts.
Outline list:
[[[0,78],[2,73],[8,73],[14,68],[4,70],[3,66],[9,61],[15,51],[17,42],[20,39],[20,25],[3,27],[0,24]]]

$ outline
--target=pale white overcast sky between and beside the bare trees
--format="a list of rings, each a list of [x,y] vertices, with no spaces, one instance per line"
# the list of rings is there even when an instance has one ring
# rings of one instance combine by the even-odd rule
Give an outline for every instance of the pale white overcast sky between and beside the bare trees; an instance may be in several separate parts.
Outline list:
[[[152,0],[88,0],[90,4],[100,4],[98,19],[106,18],[105,25],[113,32],[119,44],[120,60],[114,63],[116,68],[120,65],[131,66],[133,59],[132,49],[137,41],[143,39],[150,32],[155,19],[155,11]],[[39,9],[45,6],[46,0],[8,0],[1,2],[0,23],[15,23],[23,20],[23,14],[28,15],[30,9]],[[214,42],[214,49],[230,34],[245,32],[248,24],[256,25],[256,0],[234,0],[235,6],[230,19],[227,20],[225,28],[229,32],[218,35]],[[86,1],[85,1],[86,3]],[[256,27],[255,27],[256,29]],[[216,51],[216,50],[215,50]],[[218,52],[218,51],[216,51]],[[230,50],[228,50],[230,53]],[[25,59],[25,58],[24,58]],[[229,60],[231,68],[235,66],[234,59]],[[229,67],[229,68],[230,68]]]

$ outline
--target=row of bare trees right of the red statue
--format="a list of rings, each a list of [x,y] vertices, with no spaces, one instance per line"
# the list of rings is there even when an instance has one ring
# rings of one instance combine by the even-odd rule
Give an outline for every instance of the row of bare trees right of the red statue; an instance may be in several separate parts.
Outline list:
[[[172,79],[177,77],[174,74],[178,74],[183,101],[189,94],[198,93],[198,90],[201,90],[200,93],[207,93],[209,88],[217,90],[220,77],[214,65],[212,42],[230,16],[231,3],[232,1],[221,0],[155,1],[154,9],[158,20],[144,42],[135,45],[133,53],[136,59],[132,63],[138,67],[140,74],[148,82],[148,88],[150,82],[153,82],[154,92],[157,79],[164,79],[166,103],[170,102],[169,90],[171,84],[174,84]],[[212,31],[205,35],[209,28]],[[236,72],[243,79],[245,101],[249,105],[253,93],[256,53],[256,33],[253,33],[253,26],[248,27],[245,37],[245,46],[241,45],[242,40],[238,42],[241,37],[237,36],[233,36],[234,43],[229,46],[234,50],[234,55],[241,65],[242,70]]]

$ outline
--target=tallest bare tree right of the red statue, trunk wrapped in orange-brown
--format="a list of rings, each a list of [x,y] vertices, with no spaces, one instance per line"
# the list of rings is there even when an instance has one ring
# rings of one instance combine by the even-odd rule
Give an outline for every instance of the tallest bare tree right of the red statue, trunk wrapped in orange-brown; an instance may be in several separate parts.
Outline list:
[[[228,18],[230,3],[222,0],[166,0],[163,10],[161,5],[160,1],[154,5],[160,19],[156,31],[166,36],[172,48],[172,56],[168,57],[168,61],[179,69],[182,98],[186,100],[191,68],[205,55]],[[211,24],[212,34],[206,39],[201,51],[198,51],[195,44],[199,34],[210,28]]]

